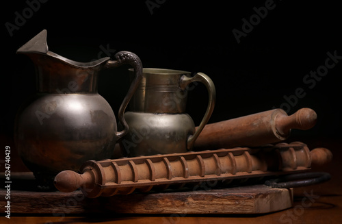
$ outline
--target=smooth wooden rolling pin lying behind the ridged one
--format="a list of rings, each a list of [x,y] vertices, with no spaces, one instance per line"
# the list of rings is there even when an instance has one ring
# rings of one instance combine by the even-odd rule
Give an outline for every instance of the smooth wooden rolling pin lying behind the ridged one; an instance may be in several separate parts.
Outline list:
[[[302,108],[287,116],[281,109],[268,110],[236,119],[205,125],[194,150],[259,147],[280,142],[289,137],[291,129],[306,130],[315,126],[317,114]]]

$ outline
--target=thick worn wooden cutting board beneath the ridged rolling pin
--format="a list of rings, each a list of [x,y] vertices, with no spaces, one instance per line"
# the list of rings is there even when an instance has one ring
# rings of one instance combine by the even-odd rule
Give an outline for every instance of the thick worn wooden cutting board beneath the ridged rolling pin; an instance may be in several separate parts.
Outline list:
[[[4,183],[3,175],[1,177]],[[292,189],[270,188],[262,184],[222,189],[207,186],[208,190],[193,188],[185,191],[137,192],[89,199],[79,190],[64,193],[25,189],[32,189],[30,186],[33,183],[31,173],[12,175],[11,214],[263,214],[293,206]],[[0,195],[6,193],[6,189],[0,189]],[[1,208],[7,201],[1,196]]]

